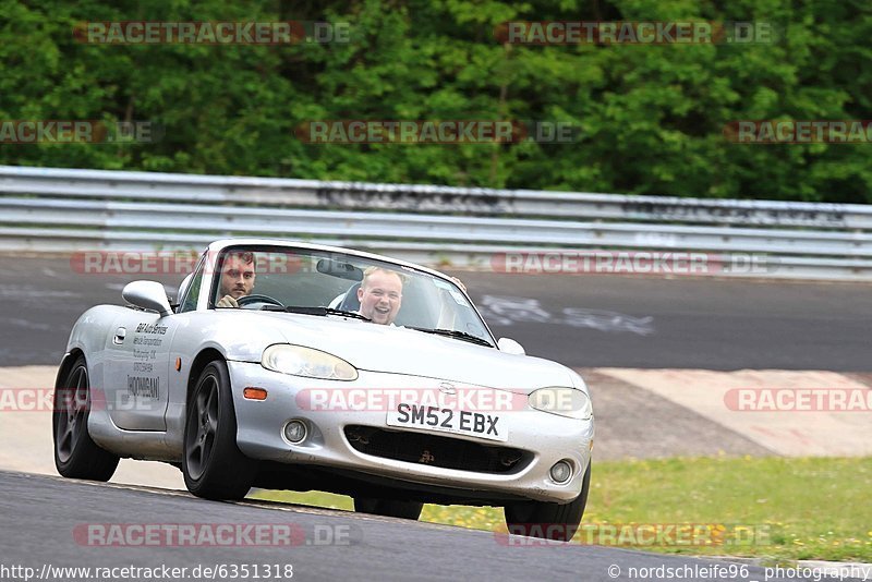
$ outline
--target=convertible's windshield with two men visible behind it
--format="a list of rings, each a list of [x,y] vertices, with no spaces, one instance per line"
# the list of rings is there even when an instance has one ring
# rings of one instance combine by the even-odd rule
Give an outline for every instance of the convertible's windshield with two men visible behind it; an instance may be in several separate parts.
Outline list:
[[[373,324],[472,336],[465,339],[494,345],[455,282],[389,262],[307,248],[231,246],[215,262],[211,289],[214,308],[346,312]]]

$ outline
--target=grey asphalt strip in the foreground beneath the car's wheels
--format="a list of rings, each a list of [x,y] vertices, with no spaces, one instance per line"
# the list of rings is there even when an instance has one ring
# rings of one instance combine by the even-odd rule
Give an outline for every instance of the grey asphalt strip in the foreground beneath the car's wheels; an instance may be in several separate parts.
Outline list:
[[[760,567],[748,567],[747,575],[730,575],[730,568],[736,574],[743,572],[739,565],[726,561],[574,544],[513,546],[495,533],[462,528],[299,506],[214,502],[184,493],[60,477],[0,472],[0,489],[3,490],[0,497],[2,563],[31,567],[37,573],[41,573],[46,565],[53,568],[168,566],[189,568],[191,572],[197,566],[280,565],[283,568],[290,563],[293,580],[637,580],[631,567],[638,570],[680,568],[685,574],[682,580],[750,582],[764,579]],[[87,534],[82,533],[88,524],[143,523],[291,524],[302,534],[293,536],[294,544],[290,546],[144,547],[100,545],[102,536],[90,537],[89,543]],[[341,535],[328,536],[316,531],[340,532]],[[341,543],[316,543],[328,537]],[[138,543],[138,538],[131,539]],[[618,573],[615,568],[619,568],[619,574],[609,575],[609,567],[611,573]],[[713,567],[720,570],[715,572]],[[697,573],[703,575],[693,575]],[[656,580],[650,575],[645,579]],[[80,578],[68,575],[64,580]]]

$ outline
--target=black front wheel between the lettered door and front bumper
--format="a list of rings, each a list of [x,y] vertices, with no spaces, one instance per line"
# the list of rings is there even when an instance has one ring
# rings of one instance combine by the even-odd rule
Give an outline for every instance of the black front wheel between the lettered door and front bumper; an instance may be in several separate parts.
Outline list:
[[[230,374],[210,362],[187,400],[182,473],[187,490],[206,499],[242,499],[254,482],[257,463],[237,446],[237,414]]]

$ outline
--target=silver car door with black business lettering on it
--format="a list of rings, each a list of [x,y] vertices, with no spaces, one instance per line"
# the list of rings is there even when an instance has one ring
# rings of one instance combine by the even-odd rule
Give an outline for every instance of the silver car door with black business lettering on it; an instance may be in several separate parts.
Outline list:
[[[112,422],[128,431],[166,431],[174,314],[125,310],[106,340],[104,388]]]

